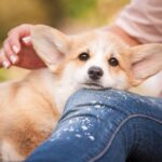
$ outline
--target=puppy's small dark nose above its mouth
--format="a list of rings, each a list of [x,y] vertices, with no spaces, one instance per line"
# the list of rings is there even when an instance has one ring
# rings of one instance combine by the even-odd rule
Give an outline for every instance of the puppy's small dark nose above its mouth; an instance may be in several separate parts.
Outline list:
[[[92,66],[89,71],[89,77],[92,79],[92,80],[98,80],[102,78],[102,76],[104,75],[104,71],[100,67],[97,67],[97,66]]]

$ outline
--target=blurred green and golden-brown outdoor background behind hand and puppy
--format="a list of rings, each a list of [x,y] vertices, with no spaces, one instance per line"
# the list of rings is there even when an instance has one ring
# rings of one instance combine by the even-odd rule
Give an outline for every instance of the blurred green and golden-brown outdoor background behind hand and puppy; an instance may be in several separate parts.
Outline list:
[[[107,25],[129,0],[0,0],[0,45],[13,27],[45,24],[67,33]],[[0,69],[0,81],[26,73],[21,68]]]

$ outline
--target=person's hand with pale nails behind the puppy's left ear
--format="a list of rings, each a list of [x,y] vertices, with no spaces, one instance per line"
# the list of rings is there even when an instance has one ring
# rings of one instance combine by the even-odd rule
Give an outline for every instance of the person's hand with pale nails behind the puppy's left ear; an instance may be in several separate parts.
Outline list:
[[[32,25],[24,24],[9,31],[0,50],[0,67],[10,68],[12,65],[27,69],[45,67],[32,48],[31,27]]]

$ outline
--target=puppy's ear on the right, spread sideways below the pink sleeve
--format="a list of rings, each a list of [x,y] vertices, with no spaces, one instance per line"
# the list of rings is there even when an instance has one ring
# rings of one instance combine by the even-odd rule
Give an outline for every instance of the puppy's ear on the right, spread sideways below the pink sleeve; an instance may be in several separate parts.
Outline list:
[[[162,44],[138,45],[131,51],[134,85],[162,70]]]

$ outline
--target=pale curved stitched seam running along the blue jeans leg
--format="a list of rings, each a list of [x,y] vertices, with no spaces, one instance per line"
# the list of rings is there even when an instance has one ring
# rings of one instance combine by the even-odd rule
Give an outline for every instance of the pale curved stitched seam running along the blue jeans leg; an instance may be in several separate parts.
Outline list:
[[[147,114],[137,114],[137,113],[134,113],[134,114],[131,114],[127,118],[125,118],[121,123],[120,125],[116,129],[116,131],[113,132],[112,136],[110,137],[110,140],[109,143],[106,145],[106,147],[103,149],[103,151],[100,153],[98,153],[97,156],[95,156],[94,158],[92,158],[89,162],[94,162],[98,159],[100,159],[103,156],[105,156],[105,153],[109,150],[110,146],[112,145],[113,143],[113,139],[116,137],[116,135],[118,134],[118,132],[120,131],[120,129],[126,123],[129,122],[131,119],[133,118],[137,118],[137,117],[141,117],[141,118],[147,118],[147,119],[150,119],[150,120],[153,120],[160,124],[162,124],[162,121],[161,120],[158,120],[153,117],[149,117]]]

